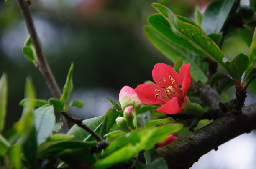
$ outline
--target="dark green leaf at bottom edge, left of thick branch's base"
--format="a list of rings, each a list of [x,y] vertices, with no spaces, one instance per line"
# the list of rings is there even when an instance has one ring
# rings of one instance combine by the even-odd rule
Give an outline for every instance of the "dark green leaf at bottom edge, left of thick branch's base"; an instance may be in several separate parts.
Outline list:
[[[143,164],[141,162],[135,163],[136,169],[168,169],[168,165],[163,158],[158,158],[151,164]]]

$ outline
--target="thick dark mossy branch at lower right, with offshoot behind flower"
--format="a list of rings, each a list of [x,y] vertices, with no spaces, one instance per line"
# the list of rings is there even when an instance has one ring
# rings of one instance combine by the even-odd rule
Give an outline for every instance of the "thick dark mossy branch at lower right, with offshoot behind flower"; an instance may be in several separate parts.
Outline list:
[[[220,105],[227,103],[209,85],[193,82],[191,90],[217,113],[222,111]],[[157,149],[157,153],[166,159],[169,169],[188,169],[202,155],[253,129],[256,129],[256,104],[243,107],[240,113],[223,112],[214,122]]]

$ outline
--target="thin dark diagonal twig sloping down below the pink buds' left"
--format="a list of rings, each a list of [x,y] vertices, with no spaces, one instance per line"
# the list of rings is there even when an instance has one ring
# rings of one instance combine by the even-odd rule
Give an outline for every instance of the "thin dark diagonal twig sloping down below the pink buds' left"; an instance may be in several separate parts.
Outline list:
[[[105,144],[105,146],[108,146],[108,143],[105,142],[104,139],[102,139],[97,133],[95,133],[92,129],[90,129],[87,125],[85,125],[84,123],[82,123],[81,120],[79,119],[74,119],[74,117],[70,116],[69,114],[67,114],[66,112],[61,112],[61,114],[66,118],[69,119],[70,121],[74,122],[75,124],[77,124],[79,127],[81,127],[82,129],[86,130],[88,133],[92,134],[92,137],[94,137],[97,142],[101,142],[103,144]]]

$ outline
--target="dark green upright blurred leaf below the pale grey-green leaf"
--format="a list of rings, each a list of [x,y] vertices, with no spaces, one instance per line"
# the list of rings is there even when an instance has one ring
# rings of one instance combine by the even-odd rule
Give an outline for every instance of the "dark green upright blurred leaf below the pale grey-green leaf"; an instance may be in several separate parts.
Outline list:
[[[36,141],[36,128],[31,127],[30,133],[23,144],[23,153],[27,159],[28,165],[31,169],[37,169],[37,141]]]

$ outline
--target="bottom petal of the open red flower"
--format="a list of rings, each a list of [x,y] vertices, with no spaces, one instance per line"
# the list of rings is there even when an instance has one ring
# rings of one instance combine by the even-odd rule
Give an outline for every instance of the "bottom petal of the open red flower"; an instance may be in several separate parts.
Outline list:
[[[174,97],[169,102],[162,105],[156,110],[164,114],[177,114],[179,111],[181,111],[181,107],[179,107],[177,97]]]

